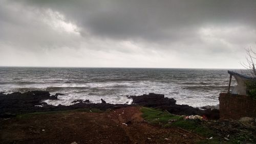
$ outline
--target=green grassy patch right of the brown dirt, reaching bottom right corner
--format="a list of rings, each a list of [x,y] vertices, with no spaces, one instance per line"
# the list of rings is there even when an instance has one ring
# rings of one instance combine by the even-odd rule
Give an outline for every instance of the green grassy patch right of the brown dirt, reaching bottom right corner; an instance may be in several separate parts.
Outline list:
[[[242,134],[242,132],[239,132],[232,136],[230,135],[229,140],[227,141],[223,139],[223,136],[220,137],[217,135],[218,132],[214,129],[214,127],[204,125],[199,119],[185,120],[183,116],[177,116],[170,114],[167,111],[147,107],[142,107],[141,111],[143,113],[142,117],[144,118],[144,120],[150,124],[158,125],[163,128],[181,128],[205,138],[213,137],[211,139],[201,140],[198,143],[244,143],[254,142],[256,140],[252,132],[246,132],[246,134]]]

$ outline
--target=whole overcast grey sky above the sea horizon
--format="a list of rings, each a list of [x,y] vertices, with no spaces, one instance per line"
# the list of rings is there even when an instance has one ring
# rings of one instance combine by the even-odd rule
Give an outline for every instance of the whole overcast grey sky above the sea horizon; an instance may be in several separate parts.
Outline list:
[[[0,66],[241,68],[256,1],[0,0]]]

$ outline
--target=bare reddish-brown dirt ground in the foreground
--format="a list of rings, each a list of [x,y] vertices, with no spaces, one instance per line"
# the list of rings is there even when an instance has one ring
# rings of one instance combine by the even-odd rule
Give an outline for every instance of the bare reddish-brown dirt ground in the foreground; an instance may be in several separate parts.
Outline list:
[[[0,143],[196,143],[200,138],[178,128],[143,121],[140,107],[103,113],[68,112],[10,118],[0,122]],[[122,123],[130,124],[123,125]]]

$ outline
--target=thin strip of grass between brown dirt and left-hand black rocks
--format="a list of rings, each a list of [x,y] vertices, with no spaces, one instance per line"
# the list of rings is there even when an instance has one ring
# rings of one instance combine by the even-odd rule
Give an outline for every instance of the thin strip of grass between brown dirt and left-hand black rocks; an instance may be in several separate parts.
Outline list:
[[[63,113],[70,113],[70,112],[102,112],[100,109],[75,109],[75,110],[61,110],[61,111],[46,111],[46,112],[31,112],[31,113],[25,113],[25,114],[19,114],[16,117],[19,118],[28,118],[34,115],[40,115],[40,114],[63,114]]]

